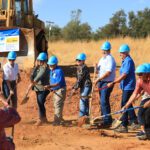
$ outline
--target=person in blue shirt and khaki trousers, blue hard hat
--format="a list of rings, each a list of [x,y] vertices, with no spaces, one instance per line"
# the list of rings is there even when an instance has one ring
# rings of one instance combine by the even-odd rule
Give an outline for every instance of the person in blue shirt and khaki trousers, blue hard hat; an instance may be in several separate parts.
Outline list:
[[[45,86],[45,89],[49,89],[53,92],[54,103],[54,126],[62,125],[63,108],[66,98],[66,81],[63,70],[58,66],[58,59],[56,56],[51,56],[48,60],[50,69],[50,84]]]

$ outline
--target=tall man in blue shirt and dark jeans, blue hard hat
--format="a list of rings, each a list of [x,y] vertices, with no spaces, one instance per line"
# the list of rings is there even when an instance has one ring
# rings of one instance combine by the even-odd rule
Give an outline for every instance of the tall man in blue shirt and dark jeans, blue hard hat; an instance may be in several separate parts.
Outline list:
[[[122,64],[120,67],[120,76],[116,78],[113,82],[108,84],[108,87],[115,85],[116,83],[120,83],[120,88],[122,90],[122,101],[121,107],[123,107],[129,100],[132,95],[135,84],[135,65],[134,61],[130,56],[130,47],[127,44],[123,44],[119,48],[120,57],[122,59]],[[130,108],[133,106],[130,105]],[[137,124],[137,117],[134,109],[131,111],[127,111],[122,115],[120,119],[122,124],[116,129],[118,132],[126,133],[128,132],[128,117],[131,120],[132,126],[135,128]]]

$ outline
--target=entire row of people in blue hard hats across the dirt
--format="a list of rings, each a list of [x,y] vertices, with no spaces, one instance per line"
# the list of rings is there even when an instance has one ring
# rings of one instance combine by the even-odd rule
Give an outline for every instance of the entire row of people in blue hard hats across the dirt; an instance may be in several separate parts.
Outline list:
[[[141,126],[141,132],[137,136],[146,138],[146,127],[150,128],[150,115],[146,113],[150,107],[150,64],[145,63],[138,66],[135,69],[135,64],[130,56],[130,47],[127,44],[123,44],[119,48],[120,57],[122,59],[120,67],[120,75],[116,77],[116,62],[114,57],[111,55],[111,44],[106,41],[101,46],[102,58],[98,64],[95,65],[95,72],[97,78],[91,81],[90,71],[88,66],[85,64],[86,54],[80,53],[75,58],[77,63],[77,80],[72,87],[72,93],[75,93],[80,89],[80,102],[79,102],[79,117],[89,116],[89,95],[91,94],[94,86],[99,89],[100,107],[101,114],[106,115],[103,118],[103,124],[101,127],[110,127],[112,124],[112,116],[107,114],[111,113],[110,107],[110,95],[113,91],[115,84],[120,83],[120,89],[122,90],[121,108],[122,110],[133,108],[132,102],[142,96],[141,107],[139,108],[138,117],[134,109],[125,111],[121,117],[122,124],[115,129],[118,132],[128,132],[128,125],[137,127]],[[3,82],[2,91],[4,97],[1,96],[1,100],[5,105],[5,109],[0,109],[1,113],[9,112],[9,104],[14,108],[10,110],[14,115],[17,114],[17,84],[21,81],[18,64],[15,63],[16,52],[11,51],[8,53],[8,62],[3,66]],[[139,79],[136,81],[136,75]],[[63,108],[66,98],[66,81],[63,70],[58,66],[58,58],[51,56],[48,59],[47,53],[41,52],[37,59],[35,67],[32,70],[30,76],[30,87],[35,91],[37,104],[39,109],[39,119],[36,125],[42,125],[47,123],[45,102],[46,97],[50,92],[53,93],[53,104],[54,104],[54,121],[53,125],[61,125],[64,122],[63,119]],[[3,117],[0,117],[0,133],[4,135],[2,126]],[[8,126],[8,125],[7,125]],[[0,143],[1,143],[0,134]],[[3,136],[4,137],[4,136]],[[1,145],[1,144],[0,144]]]

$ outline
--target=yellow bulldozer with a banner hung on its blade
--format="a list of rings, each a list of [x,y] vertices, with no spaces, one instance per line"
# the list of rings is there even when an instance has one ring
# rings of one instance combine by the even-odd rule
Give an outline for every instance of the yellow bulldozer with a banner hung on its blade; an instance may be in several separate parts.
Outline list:
[[[0,0],[0,61],[17,52],[23,67],[32,67],[40,52],[46,52],[44,22],[34,14],[32,0]]]

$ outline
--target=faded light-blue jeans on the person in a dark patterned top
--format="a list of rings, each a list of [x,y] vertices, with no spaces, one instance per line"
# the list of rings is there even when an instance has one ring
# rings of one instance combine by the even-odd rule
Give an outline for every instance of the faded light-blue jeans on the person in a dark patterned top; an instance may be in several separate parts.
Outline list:
[[[91,86],[85,86],[80,89],[80,110],[79,117],[89,116],[89,98],[82,98],[82,96],[89,96],[91,92]]]

